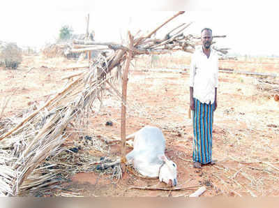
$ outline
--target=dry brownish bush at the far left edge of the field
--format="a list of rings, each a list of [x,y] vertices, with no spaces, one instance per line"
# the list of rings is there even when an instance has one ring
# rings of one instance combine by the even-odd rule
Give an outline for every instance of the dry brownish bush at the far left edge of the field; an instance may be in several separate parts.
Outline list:
[[[0,65],[6,68],[17,68],[22,62],[22,49],[16,43],[0,41]]]

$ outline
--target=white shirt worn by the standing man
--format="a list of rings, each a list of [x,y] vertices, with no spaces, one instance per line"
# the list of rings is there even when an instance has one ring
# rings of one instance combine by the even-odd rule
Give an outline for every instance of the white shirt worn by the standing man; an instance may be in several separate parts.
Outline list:
[[[202,46],[196,48],[191,59],[189,85],[193,87],[194,98],[201,103],[214,103],[218,87],[218,54],[214,50],[211,49],[207,58]]]

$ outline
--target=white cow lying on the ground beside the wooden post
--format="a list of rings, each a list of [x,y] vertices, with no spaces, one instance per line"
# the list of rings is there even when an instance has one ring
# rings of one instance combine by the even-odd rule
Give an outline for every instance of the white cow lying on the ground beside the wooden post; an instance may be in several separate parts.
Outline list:
[[[133,151],[126,155],[128,163],[133,163],[135,170],[146,177],[159,177],[160,181],[176,186],[176,164],[165,156],[165,138],[160,128],[144,126],[128,135],[130,138],[135,139]]]

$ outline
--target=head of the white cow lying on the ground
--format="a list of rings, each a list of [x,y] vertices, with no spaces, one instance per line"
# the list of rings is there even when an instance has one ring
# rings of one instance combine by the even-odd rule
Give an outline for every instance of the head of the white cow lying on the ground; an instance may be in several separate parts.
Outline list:
[[[160,160],[164,163],[160,168],[159,179],[160,181],[168,184],[169,186],[177,185],[177,173],[176,173],[176,164],[172,161],[169,161],[165,155],[158,156]]]

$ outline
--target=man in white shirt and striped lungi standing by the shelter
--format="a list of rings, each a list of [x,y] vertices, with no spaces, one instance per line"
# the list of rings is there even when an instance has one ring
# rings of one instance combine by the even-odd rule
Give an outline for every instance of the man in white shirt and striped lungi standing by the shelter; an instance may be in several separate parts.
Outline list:
[[[218,55],[211,49],[212,30],[202,29],[190,65],[190,109],[193,110],[193,166],[214,164],[212,154],[213,112],[217,108]]]

